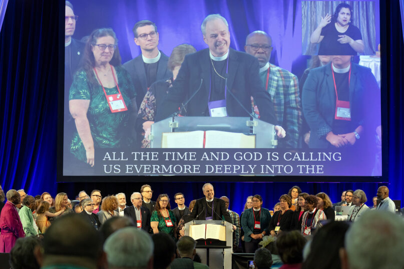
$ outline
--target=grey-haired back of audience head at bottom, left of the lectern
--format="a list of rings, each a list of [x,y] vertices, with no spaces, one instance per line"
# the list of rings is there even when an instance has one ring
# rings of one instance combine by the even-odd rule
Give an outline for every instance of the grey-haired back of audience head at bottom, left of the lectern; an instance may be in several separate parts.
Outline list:
[[[110,268],[146,268],[153,248],[150,235],[136,227],[119,229],[104,244]]]

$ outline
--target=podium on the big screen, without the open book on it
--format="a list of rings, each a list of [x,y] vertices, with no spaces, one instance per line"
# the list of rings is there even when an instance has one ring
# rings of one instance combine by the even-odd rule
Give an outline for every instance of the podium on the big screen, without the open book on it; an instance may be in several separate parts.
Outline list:
[[[256,148],[274,148],[277,145],[275,125],[257,118],[175,116],[152,124],[149,136],[150,147],[162,147],[162,134],[164,132],[195,130],[254,134]]]

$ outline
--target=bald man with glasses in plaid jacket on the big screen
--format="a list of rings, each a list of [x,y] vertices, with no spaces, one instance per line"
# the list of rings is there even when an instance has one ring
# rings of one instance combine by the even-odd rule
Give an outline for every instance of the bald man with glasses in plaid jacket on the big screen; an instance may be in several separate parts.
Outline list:
[[[272,39],[264,31],[250,33],[244,46],[245,52],[256,57],[259,76],[265,90],[271,95],[279,125],[286,130],[286,137],[278,140],[278,147],[296,148],[302,125],[302,111],[299,97],[299,83],[291,72],[269,63]],[[257,112],[254,100],[254,111]]]

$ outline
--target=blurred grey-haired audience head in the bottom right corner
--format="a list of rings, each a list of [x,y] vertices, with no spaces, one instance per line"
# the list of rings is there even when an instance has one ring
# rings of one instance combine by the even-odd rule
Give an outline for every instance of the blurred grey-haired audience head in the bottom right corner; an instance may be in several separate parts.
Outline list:
[[[403,268],[404,219],[391,212],[368,210],[346,232],[345,248],[351,269]]]

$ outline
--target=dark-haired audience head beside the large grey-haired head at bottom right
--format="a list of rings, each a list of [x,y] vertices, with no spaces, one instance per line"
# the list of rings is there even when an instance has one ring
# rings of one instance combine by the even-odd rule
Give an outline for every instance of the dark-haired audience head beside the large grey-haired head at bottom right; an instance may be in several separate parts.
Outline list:
[[[345,233],[349,225],[343,221],[325,224],[315,233],[302,269],[339,269],[339,249],[344,246]]]

